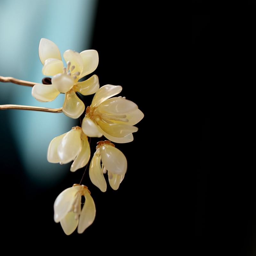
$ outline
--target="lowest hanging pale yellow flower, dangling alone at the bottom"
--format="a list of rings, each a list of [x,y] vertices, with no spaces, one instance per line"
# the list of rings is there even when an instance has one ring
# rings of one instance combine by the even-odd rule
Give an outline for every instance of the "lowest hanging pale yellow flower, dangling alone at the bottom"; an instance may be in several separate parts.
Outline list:
[[[82,234],[86,228],[92,225],[95,219],[96,208],[90,191],[84,185],[74,184],[57,196],[53,209],[54,221],[60,225],[66,235],[72,234],[76,227]],[[81,210],[81,199],[85,197],[85,203]]]

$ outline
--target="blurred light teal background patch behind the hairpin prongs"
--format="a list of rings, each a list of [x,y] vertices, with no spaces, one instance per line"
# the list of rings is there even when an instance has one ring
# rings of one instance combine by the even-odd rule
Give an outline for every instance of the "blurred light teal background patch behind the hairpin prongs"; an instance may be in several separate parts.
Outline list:
[[[0,75],[41,83],[44,77],[38,57],[42,37],[58,45],[61,55],[68,49],[90,49],[97,0],[0,1]],[[63,55],[62,55],[63,58]],[[59,108],[64,94],[48,103],[31,95],[31,87],[1,83],[0,104]],[[53,185],[67,175],[70,164],[60,166],[46,160],[49,142],[77,124],[63,113],[6,110],[7,122],[25,175],[36,184]],[[2,134],[5,136],[4,134]]]

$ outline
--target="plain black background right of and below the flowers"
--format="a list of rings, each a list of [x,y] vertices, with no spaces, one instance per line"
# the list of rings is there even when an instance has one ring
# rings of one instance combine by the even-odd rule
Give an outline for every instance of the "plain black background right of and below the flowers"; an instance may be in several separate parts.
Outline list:
[[[122,85],[121,95],[145,114],[134,141],[118,145],[127,174],[117,191],[108,186],[102,193],[86,172],[96,219],[84,234],[66,236],[53,221],[53,203],[83,170],[37,188],[24,178],[4,131],[6,239],[39,248],[60,241],[85,252],[117,254],[121,245],[160,255],[255,256],[255,17],[254,1],[218,7],[191,1],[177,12],[160,2],[99,1],[95,73],[101,85]]]

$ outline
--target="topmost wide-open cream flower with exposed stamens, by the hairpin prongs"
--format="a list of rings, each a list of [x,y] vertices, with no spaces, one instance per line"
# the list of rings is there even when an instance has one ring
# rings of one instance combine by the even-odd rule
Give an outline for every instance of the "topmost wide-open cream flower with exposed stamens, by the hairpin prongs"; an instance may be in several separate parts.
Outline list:
[[[36,100],[47,102],[54,100],[60,93],[65,93],[63,113],[72,118],[78,118],[84,112],[85,106],[76,92],[83,95],[95,93],[100,85],[96,75],[89,79],[78,80],[92,73],[98,66],[99,56],[95,50],[75,52],[67,50],[63,53],[67,67],[63,66],[59,48],[52,41],[42,38],[39,43],[39,58],[42,62],[42,73],[45,76],[53,76],[52,84],[35,84],[32,88],[32,96]]]

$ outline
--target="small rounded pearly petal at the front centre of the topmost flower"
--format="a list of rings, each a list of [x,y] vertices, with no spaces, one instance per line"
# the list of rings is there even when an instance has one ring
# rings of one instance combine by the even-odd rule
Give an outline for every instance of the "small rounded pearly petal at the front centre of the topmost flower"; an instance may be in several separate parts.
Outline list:
[[[52,77],[52,86],[59,92],[68,92],[74,86],[74,79],[67,74],[57,74]]]

